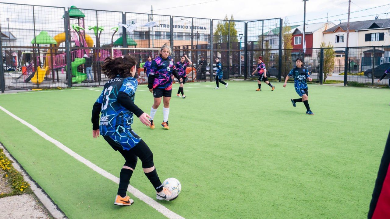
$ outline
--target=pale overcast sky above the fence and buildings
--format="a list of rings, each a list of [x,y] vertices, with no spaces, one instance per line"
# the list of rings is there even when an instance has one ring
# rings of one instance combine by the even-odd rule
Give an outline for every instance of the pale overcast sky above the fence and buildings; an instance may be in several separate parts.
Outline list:
[[[58,7],[75,5],[81,9],[99,9],[153,14],[186,16],[196,18],[223,19],[225,14],[233,14],[234,19],[271,19],[287,17],[291,25],[303,24],[304,2],[301,0],[199,0],[199,1],[166,1],[166,0],[0,0],[6,3],[33,4]],[[378,7],[384,5],[382,7]],[[181,7],[184,6],[184,7]],[[374,8],[376,7],[376,8]],[[169,8],[169,9],[168,9]],[[374,8],[374,9],[370,9]],[[367,10],[365,10],[367,9]],[[360,12],[356,12],[360,11]],[[347,21],[348,0],[308,0],[306,2],[307,23],[333,21],[339,24]],[[340,15],[344,14],[344,15]],[[337,16],[340,15],[340,16]],[[379,19],[390,19],[389,0],[354,0],[351,1],[351,21],[371,20],[378,15]],[[319,19],[322,18],[322,19]]]

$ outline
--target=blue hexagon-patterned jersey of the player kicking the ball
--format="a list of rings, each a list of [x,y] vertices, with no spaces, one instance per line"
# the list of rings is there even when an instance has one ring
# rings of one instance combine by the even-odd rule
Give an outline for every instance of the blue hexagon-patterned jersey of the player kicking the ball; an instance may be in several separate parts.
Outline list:
[[[96,102],[101,105],[100,134],[117,135],[131,130],[133,113],[117,101],[118,93],[125,92],[134,102],[138,81],[135,78],[113,78],[103,88]],[[138,142],[137,142],[138,143]]]

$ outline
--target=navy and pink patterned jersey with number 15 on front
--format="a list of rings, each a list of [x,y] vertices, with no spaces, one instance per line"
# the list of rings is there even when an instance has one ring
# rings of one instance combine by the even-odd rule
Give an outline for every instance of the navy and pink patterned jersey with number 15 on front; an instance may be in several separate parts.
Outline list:
[[[172,90],[172,71],[174,69],[176,69],[175,64],[169,56],[167,59],[158,57],[152,60],[149,75],[154,76],[153,89]]]

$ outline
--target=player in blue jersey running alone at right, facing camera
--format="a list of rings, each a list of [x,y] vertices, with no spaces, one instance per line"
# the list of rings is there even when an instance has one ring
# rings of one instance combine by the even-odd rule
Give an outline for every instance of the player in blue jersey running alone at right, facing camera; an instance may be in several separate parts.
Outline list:
[[[300,99],[291,99],[291,102],[293,103],[293,106],[296,107],[296,102],[303,102],[306,107],[306,114],[308,115],[314,115],[314,113],[310,110],[309,102],[308,102],[308,90],[307,90],[307,82],[306,80],[308,79],[309,81],[312,81],[312,78],[309,77],[308,75],[308,70],[307,68],[303,67],[303,62],[301,58],[297,58],[295,60],[296,67],[291,69],[290,73],[286,76],[286,79],[284,80],[284,85],[283,87],[286,87],[287,85],[287,80],[290,77],[294,77],[294,87],[295,91],[297,92],[298,95],[300,95]]]

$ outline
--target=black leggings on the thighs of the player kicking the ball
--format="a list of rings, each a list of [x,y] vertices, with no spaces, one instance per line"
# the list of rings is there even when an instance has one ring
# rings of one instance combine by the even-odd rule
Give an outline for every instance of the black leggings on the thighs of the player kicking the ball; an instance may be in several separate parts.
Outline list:
[[[110,145],[117,145],[117,143],[113,141],[112,138],[110,138],[109,136],[103,137]],[[142,162],[142,168],[151,168],[152,166],[154,166],[153,153],[144,140],[141,140],[130,150],[123,150],[122,148],[118,148],[118,151],[122,154],[126,161],[124,165],[133,168],[133,170],[135,170],[135,166],[137,166],[138,157]]]

